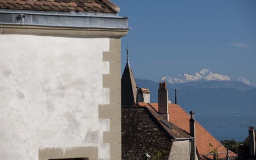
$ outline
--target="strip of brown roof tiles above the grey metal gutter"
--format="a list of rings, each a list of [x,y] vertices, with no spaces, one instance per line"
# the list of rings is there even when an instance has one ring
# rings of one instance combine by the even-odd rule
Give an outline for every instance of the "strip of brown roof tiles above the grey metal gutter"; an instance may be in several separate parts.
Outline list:
[[[120,12],[110,0],[0,0],[0,8],[76,12]]]

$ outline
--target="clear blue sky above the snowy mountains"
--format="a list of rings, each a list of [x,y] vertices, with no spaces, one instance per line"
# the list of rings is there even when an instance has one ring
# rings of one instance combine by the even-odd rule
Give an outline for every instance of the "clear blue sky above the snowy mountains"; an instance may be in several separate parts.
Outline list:
[[[132,29],[122,38],[134,76],[163,76],[207,68],[256,82],[255,0],[112,0]]]

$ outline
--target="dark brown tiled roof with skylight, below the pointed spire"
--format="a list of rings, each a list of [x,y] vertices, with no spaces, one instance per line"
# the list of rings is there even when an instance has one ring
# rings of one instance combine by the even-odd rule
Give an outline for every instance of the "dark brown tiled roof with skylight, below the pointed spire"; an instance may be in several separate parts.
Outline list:
[[[161,160],[167,160],[174,138],[190,137],[187,132],[164,120],[152,109],[139,106],[122,108],[123,160],[141,160],[145,153],[154,155],[154,150],[163,153]]]

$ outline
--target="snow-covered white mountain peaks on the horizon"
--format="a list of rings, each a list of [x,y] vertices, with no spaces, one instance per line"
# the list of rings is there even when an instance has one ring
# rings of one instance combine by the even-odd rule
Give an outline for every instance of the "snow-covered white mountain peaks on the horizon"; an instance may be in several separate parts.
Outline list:
[[[183,75],[178,75],[176,78],[164,76],[161,78],[162,81],[166,81],[168,83],[174,84],[174,83],[186,83],[186,82],[198,82],[198,81],[209,81],[209,80],[231,80],[230,77],[217,74],[217,73],[212,73],[208,69],[202,69],[200,72],[196,72],[194,74],[183,74]],[[238,82],[243,82],[245,84],[248,84],[249,86],[256,86],[254,82],[251,82],[250,80],[245,79],[244,77],[238,77],[236,80]]]

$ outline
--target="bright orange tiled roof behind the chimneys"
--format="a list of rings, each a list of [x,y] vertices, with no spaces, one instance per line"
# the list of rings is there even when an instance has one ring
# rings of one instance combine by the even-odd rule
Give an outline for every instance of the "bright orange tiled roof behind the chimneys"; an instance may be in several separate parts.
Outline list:
[[[147,106],[155,108],[158,111],[158,103],[138,103],[139,106]],[[177,104],[169,104],[169,118],[170,122],[176,124],[178,127],[189,132],[189,119],[190,115],[186,113]],[[213,158],[212,155],[207,156],[212,148],[209,146],[211,143],[214,148],[218,147],[220,158],[226,157],[226,148],[220,144],[206,129],[204,129],[198,122],[196,122],[196,148],[202,160]],[[229,156],[237,156],[234,152],[229,153]]]

